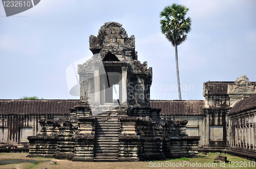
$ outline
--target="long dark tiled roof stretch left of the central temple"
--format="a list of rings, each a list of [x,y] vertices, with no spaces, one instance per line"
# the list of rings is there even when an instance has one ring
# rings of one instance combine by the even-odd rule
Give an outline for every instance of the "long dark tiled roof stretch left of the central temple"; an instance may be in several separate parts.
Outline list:
[[[69,115],[79,100],[0,100],[0,114]]]

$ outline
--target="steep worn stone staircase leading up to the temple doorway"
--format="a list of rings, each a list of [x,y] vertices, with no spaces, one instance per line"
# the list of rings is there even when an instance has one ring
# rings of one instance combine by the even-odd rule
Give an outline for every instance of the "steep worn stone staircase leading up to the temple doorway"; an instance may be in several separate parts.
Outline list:
[[[94,161],[116,162],[119,152],[118,118],[99,117],[95,124]]]

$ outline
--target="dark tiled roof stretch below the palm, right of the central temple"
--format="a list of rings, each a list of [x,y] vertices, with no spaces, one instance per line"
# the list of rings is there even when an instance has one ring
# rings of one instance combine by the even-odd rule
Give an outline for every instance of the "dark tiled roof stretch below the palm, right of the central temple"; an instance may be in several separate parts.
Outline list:
[[[151,100],[152,108],[161,108],[160,115],[203,115],[204,100]]]

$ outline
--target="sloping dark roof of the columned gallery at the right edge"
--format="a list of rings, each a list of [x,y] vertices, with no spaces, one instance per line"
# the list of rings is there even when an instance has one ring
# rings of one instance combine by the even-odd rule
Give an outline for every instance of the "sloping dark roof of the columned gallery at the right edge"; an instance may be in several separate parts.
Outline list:
[[[239,112],[245,112],[251,109],[256,109],[256,94],[246,97],[234,104],[228,115],[238,114]]]

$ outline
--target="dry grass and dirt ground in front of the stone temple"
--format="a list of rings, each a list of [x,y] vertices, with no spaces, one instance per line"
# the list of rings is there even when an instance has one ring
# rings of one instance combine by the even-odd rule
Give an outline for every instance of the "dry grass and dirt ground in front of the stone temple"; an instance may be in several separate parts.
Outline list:
[[[73,162],[69,160],[56,160],[53,158],[28,158],[28,153],[0,153],[0,168],[5,169],[51,169],[65,168],[256,168],[256,162],[247,159],[221,154],[226,156],[230,163],[214,162],[218,153],[199,153],[200,158],[180,158],[165,161],[143,161],[143,162]],[[51,164],[57,161],[57,164]],[[155,167],[154,167],[155,166]]]

